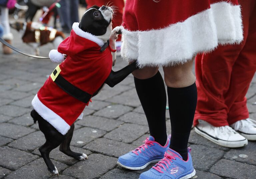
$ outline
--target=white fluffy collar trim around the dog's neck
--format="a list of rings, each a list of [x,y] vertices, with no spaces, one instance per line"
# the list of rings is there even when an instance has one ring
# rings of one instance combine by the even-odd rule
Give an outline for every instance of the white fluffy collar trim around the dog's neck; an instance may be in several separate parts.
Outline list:
[[[97,38],[96,36],[88,33],[88,32],[84,32],[82,31],[80,28],[79,28],[79,23],[78,22],[74,22],[73,26],[72,26],[72,29],[74,30],[74,32],[76,33],[76,35],[82,37],[82,38],[85,38],[85,39],[88,39],[92,42],[95,42],[96,44],[98,44],[99,46],[103,46],[104,45],[104,42]]]

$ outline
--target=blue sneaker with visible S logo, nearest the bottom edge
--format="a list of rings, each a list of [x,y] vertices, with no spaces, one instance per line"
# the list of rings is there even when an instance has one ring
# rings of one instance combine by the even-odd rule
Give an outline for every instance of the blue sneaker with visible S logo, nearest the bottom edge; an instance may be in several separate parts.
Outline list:
[[[146,172],[140,174],[139,179],[188,179],[192,178],[196,171],[192,164],[188,147],[188,159],[182,160],[180,154],[170,148],[164,154],[164,158]]]

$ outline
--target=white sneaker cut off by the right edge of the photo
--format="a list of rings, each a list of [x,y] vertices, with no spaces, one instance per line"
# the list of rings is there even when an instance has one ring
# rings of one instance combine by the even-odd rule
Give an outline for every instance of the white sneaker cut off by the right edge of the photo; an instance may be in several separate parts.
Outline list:
[[[256,140],[256,121],[247,118],[230,125],[248,140]]]

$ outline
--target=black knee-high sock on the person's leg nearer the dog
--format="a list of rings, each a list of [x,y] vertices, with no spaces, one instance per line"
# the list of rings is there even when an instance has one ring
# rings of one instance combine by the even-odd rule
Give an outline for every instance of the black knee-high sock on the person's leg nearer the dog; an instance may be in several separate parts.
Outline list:
[[[164,145],[167,140],[166,92],[162,75],[158,71],[155,76],[148,79],[141,80],[134,77],[134,83],[147,117],[150,135],[155,138],[155,141]]]

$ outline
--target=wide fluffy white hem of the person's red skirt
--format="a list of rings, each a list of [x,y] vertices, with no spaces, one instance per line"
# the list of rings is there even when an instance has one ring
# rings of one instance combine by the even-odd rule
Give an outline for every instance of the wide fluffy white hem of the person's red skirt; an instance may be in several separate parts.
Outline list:
[[[184,63],[199,52],[214,50],[218,44],[243,40],[239,5],[219,2],[183,22],[149,31],[122,29],[121,55],[138,60],[140,67]]]

